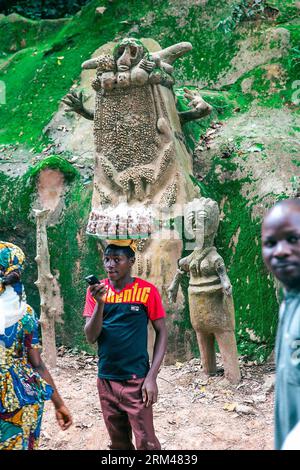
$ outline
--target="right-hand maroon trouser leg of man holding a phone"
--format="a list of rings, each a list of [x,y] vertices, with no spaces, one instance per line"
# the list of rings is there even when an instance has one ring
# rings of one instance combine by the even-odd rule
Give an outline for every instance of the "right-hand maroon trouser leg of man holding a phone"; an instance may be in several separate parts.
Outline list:
[[[142,401],[144,379],[127,380],[120,406],[127,413],[135,436],[137,450],[160,450],[153,426],[152,406],[145,407]]]

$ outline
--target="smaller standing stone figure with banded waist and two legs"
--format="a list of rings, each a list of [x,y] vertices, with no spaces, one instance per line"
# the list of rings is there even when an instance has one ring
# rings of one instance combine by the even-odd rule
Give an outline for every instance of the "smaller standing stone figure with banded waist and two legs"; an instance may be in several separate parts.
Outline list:
[[[221,352],[225,377],[231,383],[241,379],[234,334],[232,287],[223,258],[214,247],[219,226],[219,208],[209,198],[194,199],[186,208],[186,230],[194,234],[195,249],[179,260],[178,272],[169,288],[176,300],[180,277],[189,273],[189,309],[196,331],[204,371],[216,373],[215,339]]]

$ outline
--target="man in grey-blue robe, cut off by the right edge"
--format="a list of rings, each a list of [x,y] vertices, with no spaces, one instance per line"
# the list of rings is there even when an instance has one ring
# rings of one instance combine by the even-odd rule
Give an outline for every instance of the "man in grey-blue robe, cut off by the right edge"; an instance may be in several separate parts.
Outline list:
[[[300,199],[276,204],[262,227],[263,257],[285,290],[276,340],[275,447],[300,422]]]

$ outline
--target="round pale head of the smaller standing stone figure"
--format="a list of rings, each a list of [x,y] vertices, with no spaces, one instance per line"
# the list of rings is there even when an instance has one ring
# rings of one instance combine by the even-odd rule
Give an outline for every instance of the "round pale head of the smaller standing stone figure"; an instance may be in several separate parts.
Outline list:
[[[219,226],[219,207],[216,201],[210,198],[195,198],[186,205],[184,211],[185,232],[191,238],[214,239]]]

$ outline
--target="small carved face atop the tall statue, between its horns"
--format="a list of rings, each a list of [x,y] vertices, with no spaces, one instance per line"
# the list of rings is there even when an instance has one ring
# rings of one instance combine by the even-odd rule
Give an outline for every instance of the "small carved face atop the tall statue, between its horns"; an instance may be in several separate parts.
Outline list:
[[[148,54],[148,50],[136,38],[122,39],[114,48],[113,56],[119,72],[125,72],[137,65]]]

